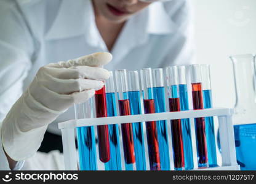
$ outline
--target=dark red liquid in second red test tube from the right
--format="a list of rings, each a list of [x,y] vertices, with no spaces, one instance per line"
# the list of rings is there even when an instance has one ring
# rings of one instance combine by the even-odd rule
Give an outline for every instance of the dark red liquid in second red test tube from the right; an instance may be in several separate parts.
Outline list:
[[[180,98],[169,98],[170,112],[180,111]],[[185,167],[182,123],[180,120],[171,120],[172,147],[174,148],[174,167]]]

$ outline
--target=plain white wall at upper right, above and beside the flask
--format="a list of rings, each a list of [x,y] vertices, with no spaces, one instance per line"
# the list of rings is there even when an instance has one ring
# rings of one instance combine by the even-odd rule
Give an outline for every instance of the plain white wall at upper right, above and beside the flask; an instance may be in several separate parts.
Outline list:
[[[209,63],[215,107],[233,107],[230,55],[256,53],[256,0],[190,0],[198,63]]]

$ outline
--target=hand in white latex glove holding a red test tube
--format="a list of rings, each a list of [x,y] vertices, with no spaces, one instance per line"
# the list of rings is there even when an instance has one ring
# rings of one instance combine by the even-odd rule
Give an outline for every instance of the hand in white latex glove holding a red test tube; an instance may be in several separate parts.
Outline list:
[[[94,53],[41,67],[2,122],[2,144],[7,155],[15,161],[32,156],[40,147],[49,123],[103,87],[102,81],[110,73],[98,66],[111,59],[110,53]]]

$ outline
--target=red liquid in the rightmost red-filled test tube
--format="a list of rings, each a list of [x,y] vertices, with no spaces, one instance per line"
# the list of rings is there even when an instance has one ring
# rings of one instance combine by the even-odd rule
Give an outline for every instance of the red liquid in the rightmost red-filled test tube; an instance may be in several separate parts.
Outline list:
[[[202,86],[201,83],[192,84],[192,96],[194,110],[204,109],[202,102]],[[195,118],[196,120],[196,139],[198,142],[199,164],[206,164],[207,145],[206,145],[206,123],[204,118]]]

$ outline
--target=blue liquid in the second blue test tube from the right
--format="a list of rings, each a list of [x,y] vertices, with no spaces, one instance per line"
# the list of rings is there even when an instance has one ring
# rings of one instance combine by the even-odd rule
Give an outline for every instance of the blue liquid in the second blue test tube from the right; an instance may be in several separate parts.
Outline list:
[[[180,90],[180,110],[189,110],[187,85],[178,85]],[[193,147],[191,140],[190,119],[182,119],[182,137],[185,158],[185,169],[194,168]]]

